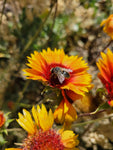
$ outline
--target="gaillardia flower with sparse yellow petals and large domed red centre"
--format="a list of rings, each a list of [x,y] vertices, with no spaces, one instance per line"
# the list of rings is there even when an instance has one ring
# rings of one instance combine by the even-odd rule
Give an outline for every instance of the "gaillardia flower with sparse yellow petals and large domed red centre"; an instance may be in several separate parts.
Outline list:
[[[52,129],[54,116],[51,111],[47,112],[44,105],[32,108],[31,114],[23,110],[23,115],[19,113],[17,122],[28,132],[28,137],[24,139],[22,147],[8,148],[5,150],[78,150],[75,148],[79,144],[77,136],[71,130]],[[38,128],[37,128],[38,126]]]

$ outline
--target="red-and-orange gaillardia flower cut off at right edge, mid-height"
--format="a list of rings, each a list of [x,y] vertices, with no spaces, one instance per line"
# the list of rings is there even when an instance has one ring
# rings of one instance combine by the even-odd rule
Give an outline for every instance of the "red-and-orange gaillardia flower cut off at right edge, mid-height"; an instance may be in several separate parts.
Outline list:
[[[113,53],[108,48],[107,53],[101,52],[102,59],[99,59],[97,66],[100,70],[99,79],[108,91],[109,104],[113,106]]]

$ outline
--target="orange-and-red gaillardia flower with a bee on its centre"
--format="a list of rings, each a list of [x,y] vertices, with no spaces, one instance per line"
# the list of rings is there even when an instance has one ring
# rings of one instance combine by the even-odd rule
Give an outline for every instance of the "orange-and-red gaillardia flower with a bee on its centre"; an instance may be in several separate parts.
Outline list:
[[[72,90],[82,96],[91,86],[87,63],[82,57],[65,55],[63,49],[35,51],[28,62],[30,68],[24,69],[28,79],[41,80],[51,87]]]

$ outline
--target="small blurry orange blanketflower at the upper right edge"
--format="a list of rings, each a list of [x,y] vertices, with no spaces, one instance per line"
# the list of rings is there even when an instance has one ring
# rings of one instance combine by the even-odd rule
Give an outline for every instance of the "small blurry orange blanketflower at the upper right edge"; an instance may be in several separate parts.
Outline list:
[[[107,33],[111,39],[113,39],[113,14],[110,15],[106,20],[103,20],[100,25],[104,25],[103,31]]]

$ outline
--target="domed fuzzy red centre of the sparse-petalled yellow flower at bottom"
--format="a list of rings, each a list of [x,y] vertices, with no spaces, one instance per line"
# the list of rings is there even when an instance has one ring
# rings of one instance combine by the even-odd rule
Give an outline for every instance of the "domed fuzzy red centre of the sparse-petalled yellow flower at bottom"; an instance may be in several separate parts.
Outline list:
[[[39,130],[24,140],[22,150],[64,150],[64,146],[60,134],[55,130]]]

